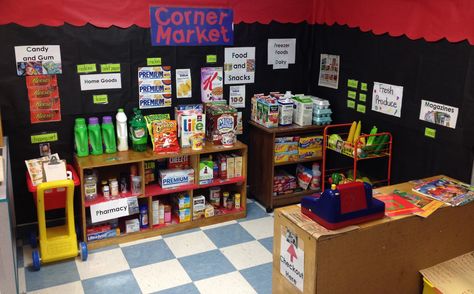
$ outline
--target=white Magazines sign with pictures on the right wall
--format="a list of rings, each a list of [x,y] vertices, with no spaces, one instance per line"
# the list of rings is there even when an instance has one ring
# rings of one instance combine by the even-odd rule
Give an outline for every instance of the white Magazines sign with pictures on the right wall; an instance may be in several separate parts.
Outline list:
[[[421,120],[455,129],[458,113],[457,107],[421,100]]]

